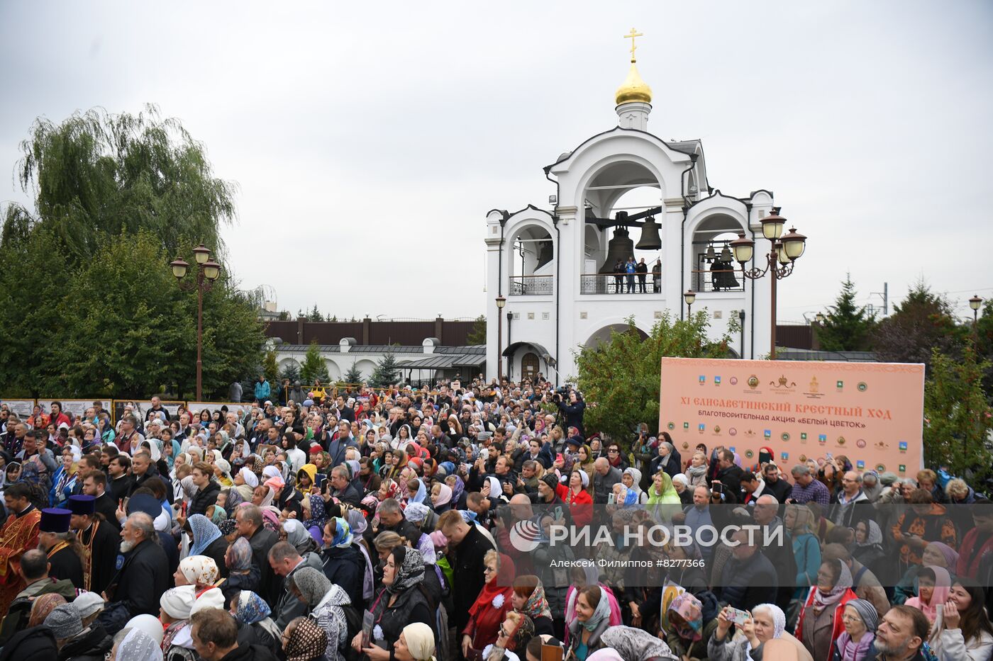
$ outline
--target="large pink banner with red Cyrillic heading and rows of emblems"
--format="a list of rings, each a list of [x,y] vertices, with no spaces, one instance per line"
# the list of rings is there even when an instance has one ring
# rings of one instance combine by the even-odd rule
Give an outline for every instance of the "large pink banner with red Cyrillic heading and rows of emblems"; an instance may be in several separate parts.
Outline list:
[[[662,358],[659,430],[684,461],[724,446],[746,468],[759,450],[788,471],[844,455],[858,470],[923,467],[919,363]]]

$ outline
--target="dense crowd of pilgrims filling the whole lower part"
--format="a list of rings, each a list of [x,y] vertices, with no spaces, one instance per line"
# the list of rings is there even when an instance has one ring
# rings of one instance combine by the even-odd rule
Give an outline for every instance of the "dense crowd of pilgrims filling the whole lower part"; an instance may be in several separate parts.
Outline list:
[[[993,657],[993,508],[962,478],[607,440],[585,408],[540,377],[116,424],[2,406],[0,661]],[[554,516],[783,543],[584,550]]]

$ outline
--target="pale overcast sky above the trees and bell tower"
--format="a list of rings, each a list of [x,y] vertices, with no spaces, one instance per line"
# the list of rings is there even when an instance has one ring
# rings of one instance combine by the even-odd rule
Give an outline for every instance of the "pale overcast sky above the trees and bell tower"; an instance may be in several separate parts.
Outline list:
[[[339,317],[484,311],[485,214],[617,124],[632,26],[648,129],[809,237],[780,320],[915,281],[993,297],[993,3],[0,3],[0,200],[32,121],[156,103],[239,186],[241,286]],[[766,285],[768,286],[768,285]],[[971,315],[970,315],[971,316]]]

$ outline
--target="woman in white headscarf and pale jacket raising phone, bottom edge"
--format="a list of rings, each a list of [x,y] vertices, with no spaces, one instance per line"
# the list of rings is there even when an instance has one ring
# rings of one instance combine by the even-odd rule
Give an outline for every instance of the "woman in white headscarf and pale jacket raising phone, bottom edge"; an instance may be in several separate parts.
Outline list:
[[[730,607],[730,606],[728,606]],[[717,614],[717,628],[707,641],[707,657],[710,661],[749,661],[752,654],[762,654],[768,661],[779,661],[772,652],[769,657],[763,650],[771,640],[789,644],[796,652],[799,661],[813,661],[810,652],[799,640],[786,632],[786,615],[775,603],[760,603],[752,608],[752,617],[744,624],[732,624],[728,619],[728,607]],[[731,628],[736,632],[732,635]]]

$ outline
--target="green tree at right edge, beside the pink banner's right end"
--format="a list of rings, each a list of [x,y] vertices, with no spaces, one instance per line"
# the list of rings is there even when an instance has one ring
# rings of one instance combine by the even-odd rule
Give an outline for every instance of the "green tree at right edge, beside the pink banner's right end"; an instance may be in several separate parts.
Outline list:
[[[971,483],[993,474],[993,410],[982,386],[989,367],[988,360],[977,358],[971,341],[961,357],[934,349],[924,384],[924,462],[948,465]]]

